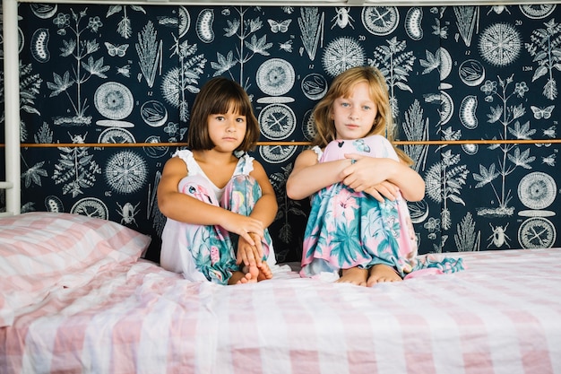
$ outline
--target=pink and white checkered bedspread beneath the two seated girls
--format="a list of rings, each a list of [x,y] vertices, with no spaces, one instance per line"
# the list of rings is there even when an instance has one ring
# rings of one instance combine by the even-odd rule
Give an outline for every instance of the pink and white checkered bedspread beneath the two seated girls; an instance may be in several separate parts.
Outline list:
[[[0,372],[561,373],[561,249],[460,256],[460,273],[370,289],[116,265],[2,327]]]

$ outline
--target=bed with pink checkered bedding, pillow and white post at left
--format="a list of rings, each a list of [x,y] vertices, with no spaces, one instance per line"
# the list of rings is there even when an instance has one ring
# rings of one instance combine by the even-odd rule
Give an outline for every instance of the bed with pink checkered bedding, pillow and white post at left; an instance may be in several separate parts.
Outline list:
[[[18,4],[3,4],[4,34],[17,35]],[[0,374],[561,373],[561,248],[449,253],[465,270],[372,288],[303,279],[294,263],[272,266],[270,281],[220,286],[144,259],[151,239],[118,222],[20,213],[14,39]]]

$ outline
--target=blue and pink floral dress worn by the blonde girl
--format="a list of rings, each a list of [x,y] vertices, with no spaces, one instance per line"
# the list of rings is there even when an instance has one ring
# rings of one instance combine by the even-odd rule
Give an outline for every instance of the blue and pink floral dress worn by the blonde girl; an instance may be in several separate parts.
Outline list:
[[[323,152],[319,147],[314,151],[319,162],[341,160],[345,153],[399,161],[393,145],[381,135],[335,140]],[[419,260],[417,236],[401,194],[381,203],[342,183],[324,187],[312,196],[303,249],[303,277],[377,264],[392,266],[401,277],[427,267],[438,273],[462,269],[461,261]]]

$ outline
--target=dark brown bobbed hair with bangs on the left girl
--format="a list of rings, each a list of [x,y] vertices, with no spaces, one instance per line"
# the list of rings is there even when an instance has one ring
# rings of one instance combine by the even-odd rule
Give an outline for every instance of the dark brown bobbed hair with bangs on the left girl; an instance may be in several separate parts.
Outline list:
[[[234,81],[224,77],[212,78],[204,83],[194,99],[187,144],[192,151],[206,151],[214,148],[209,135],[208,117],[225,114],[229,109],[246,116],[246,135],[236,151],[251,151],[259,140],[259,122],[254,114],[246,91]]]

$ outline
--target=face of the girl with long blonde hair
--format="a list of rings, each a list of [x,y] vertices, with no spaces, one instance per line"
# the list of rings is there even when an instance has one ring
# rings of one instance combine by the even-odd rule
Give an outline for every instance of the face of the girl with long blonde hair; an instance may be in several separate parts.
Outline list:
[[[370,97],[368,83],[355,84],[347,98],[337,98],[332,105],[332,120],[337,139],[350,140],[365,137],[378,113],[375,102]]]

